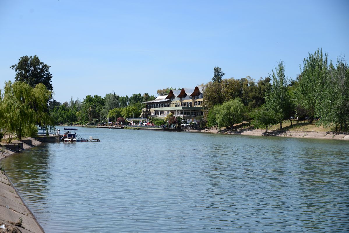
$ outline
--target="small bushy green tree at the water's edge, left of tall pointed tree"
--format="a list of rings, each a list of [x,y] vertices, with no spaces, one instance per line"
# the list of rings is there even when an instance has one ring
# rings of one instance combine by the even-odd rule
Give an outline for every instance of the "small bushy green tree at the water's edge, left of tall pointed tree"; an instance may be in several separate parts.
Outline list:
[[[277,113],[273,110],[268,110],[266,105],[262,105],[260,108],[256,108],[251,113],[251,116],[254,119],[254,126],[257,128],[266,127],[266,132],[268,132],[269,125],[275,125],[279,122],[279,117],[277,117]]]

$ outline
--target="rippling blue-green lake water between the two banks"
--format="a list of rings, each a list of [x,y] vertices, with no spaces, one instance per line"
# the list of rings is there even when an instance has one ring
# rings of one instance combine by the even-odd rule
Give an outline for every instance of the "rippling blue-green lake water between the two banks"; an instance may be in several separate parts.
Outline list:
[[[79,128],[2,161],[46,232],[347,232],[348,142]]]

